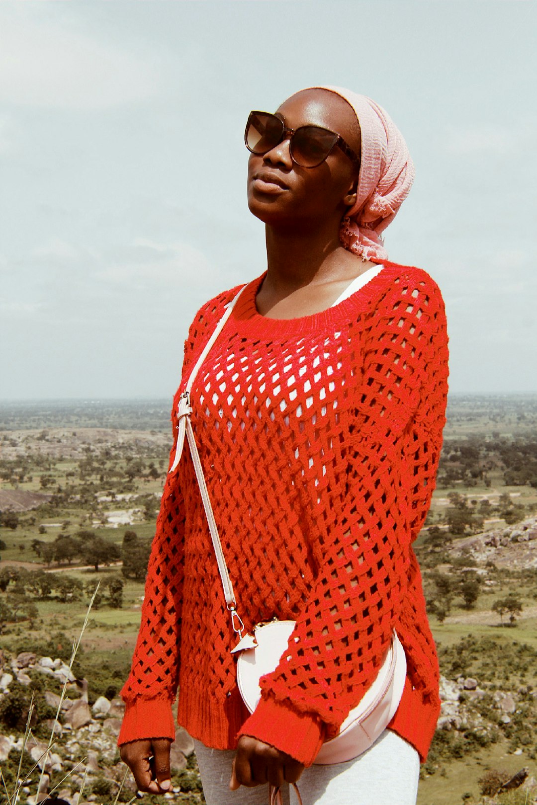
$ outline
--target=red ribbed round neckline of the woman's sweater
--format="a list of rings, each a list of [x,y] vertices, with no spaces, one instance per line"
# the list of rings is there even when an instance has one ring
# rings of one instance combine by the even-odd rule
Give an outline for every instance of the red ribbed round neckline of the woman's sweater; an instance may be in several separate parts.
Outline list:
[[[258,295],[261,283],[266,277],[266,271],[264,271],[261,276],[251,280],[246,285],[233,308],[232,318],[237,332],[250,337],[296,336],[337,326],[337,324],[345,324],[345,322],[355,319],[363,312],[370,303],[371,298],[378,292],[378,289],[388,285],[390,280],[393,279],[396,266],[388,262],[384,262],[382,265],[382,271],[379,271],[366,285],[359,288],[347,299],[334,304],[331,308],[313,313],[311,316],[299,316],[296,319],[272,319],[268,316],[262,316],[258,312],[255,297]]]

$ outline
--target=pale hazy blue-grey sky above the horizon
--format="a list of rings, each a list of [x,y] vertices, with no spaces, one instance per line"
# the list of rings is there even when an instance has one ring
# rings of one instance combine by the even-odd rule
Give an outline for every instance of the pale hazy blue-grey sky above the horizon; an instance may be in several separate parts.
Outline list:
[[[266,267],[243,131],[311,85],[385,107],[386,229],[440,285],[450,389],[537,391],[535,2],[0,3],[0,398],[170,398],[196,310]]]

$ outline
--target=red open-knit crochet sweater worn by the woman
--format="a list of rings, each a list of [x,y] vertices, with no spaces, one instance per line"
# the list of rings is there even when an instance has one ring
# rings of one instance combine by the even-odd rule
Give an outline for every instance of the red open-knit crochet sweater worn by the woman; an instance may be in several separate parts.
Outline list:
[[[179,685],[179,723],[204,744],[231,749],[246,734],[308,766],[370,686],[395,628],[407,683],[390,729],[424,760],[439,671],[411,542],[444,426],[440,291],[423,270],[387,262],[333,308],[275,320],[255,308],[261,281],[200,369],[192,425],[246,629],[293,619],[293,639],[249,716],[185,444],[163,492],[119,743],[173,737]],[[174,411],[236,291],[196,316]]]

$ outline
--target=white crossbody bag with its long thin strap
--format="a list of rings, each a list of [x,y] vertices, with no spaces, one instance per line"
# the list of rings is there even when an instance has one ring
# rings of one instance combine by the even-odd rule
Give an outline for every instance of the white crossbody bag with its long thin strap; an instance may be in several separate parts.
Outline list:
[[[196,361],[196,365],[192,369],[184,393],[180,395],[177,411],[179,425],[176,456],[171,465],[170,472],[173,472],[180,462],[184,446],[184,437],[186,436],[194,464],[197,483],[200,487],[209,532],[213,540],[214,552],[217,557],[218,572],[220,573],[221,584],[224,590],[225,604],[227,609],[229,609],[233,631],[238,634],[239,638],[237,646],[234,646],[231,650],[232,654],[238,654],[238,688],[246,707],[250,712],[254,712],[261,698],[259,678],[264,674],[270,674],[271,671],[274,671],[280,658],[285,654],[286,650],[288,650],[289,642],[292,640],[292,632],[295,628],[295,621],[269,621],[254,626],[251,634],[243,634],[244,624],[237,611],[237,601],[235,600],[233,585],[231,584],[229,571],[225,563],[224,551],[222,550],[217,523],[213,514],[213,506],[211,506],[209,499],[200,454],[197,450],[194,431],[192,430],[192,423],[190,421],[190,415],[192,414],[190,393],[196,375],[209,354],[210,349],[212,349],[214,342],[224,328],[225,322],[229,319],[233,307],[243,290],[242,288],[238,295],[236,295],[233,301],[227,306],[213,335],[209,338],[207,345],[205,345],[203,352]],[[407,660],[405,652],[394,631],[392,641],[386,651],[382,666],[378,671],[374,683],[361,698],[357,707],[349,712],[349,716],[347,716],[341,725],[337,736],[330,738],[328,741],[324,741],[315,762],[320,765],[341,763],[357,758],[358,755],[365,752],[383,730],[386,729],[386,726],[390,723],[395,711],[399,707],[406,675]]]

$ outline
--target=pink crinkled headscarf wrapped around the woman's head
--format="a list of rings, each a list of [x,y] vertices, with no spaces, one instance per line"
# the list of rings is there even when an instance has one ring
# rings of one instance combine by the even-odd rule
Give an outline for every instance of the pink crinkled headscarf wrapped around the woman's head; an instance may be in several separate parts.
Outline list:
[[[366,260],[383,260],[388,254],[381,233],[408,195],[414,165],[401,132],[382,106],[341,87],[328,89],[349,103],[361,129],[361,167],[356,204],[341,221],[345,249]]]

